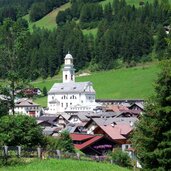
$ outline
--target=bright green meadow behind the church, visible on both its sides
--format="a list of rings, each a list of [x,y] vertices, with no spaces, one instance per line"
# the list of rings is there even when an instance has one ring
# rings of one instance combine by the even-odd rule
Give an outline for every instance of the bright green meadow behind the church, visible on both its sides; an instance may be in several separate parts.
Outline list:
[[[159,73],[158,64],[153,63],[133,68],[122,68],[110,71],[91,73],[88,76],[76,77],[76,81],[91,81],[96,90],[96,98],[104,99],[148,99],[154,93],[154,81]],[[61,73],[60,73],[61,74]],[[62,82],[61,75],[33,82],[34,87],[48,90],[54,83]],[[47,97],[37,98],[36,103],[47,105]]]

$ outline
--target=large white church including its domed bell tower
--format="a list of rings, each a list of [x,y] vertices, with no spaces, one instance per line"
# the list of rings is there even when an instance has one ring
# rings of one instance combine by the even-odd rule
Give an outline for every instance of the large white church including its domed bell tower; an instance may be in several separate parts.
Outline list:
[[[55,83],[48,92],[48,113],[93,111],[96,92],[91,82],[75,82],[75,69],[71,54],[65,56],[63,83]]]

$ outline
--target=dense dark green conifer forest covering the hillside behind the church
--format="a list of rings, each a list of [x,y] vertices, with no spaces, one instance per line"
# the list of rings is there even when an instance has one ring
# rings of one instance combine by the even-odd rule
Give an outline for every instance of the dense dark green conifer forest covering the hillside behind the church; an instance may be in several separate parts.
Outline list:
[[[71,8],[58,13],[57,29],[34,28],[33,32],[29,31],[21,13],[14,10],[16,16],[11,17],[10,12],[2,15],[2,9],[30,10],[30,17],[32,15],[35,21],[42,17],[41,13],[38,17],[38,13],[33,13],[33,9],[40,7],[37,3],[46,4],[48,8],[53,0],[22,1],[24,6],[19,0],[15,1],[8,6],[5,5],[7,1],[0,0],[3,4],[0,8],[1,78],[6,78],[10,70],[30,80],[40,76],[52,77],[59,71],[68,51],[74,57],[77,71],[87,67],[92,71],[122,65],[131,67],[137,62],[170,57],[168,42],[171,33],[166,32],[171,23],[168,0],[154,0],[152,4],[144,3],[139,8],[128,5],[125,0],[114,0],[104,7],[99,5],[100,0],[72,0]],[[48,12],[68,1],[55,2]],[[35,11],[40,12],[38,9]],[[91,28],[98,28],[97,36],[83,35],[82,29]]]

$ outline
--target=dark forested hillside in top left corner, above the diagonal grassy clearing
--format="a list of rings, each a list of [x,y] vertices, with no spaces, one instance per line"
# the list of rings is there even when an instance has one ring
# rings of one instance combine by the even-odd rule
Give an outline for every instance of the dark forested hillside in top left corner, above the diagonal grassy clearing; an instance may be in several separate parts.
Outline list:
[[[37,21],[69,0],[0,0],[0,22],[4,18],[17,18],[29,12],[30,21]]]

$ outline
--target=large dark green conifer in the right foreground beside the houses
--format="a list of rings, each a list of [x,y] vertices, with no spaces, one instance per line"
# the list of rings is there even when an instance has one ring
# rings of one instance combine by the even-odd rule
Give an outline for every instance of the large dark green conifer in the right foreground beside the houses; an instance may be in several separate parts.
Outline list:
[[[171,163],[171,60],[162,64],[155,91],[132,141],[144,169],[164,171]]]

